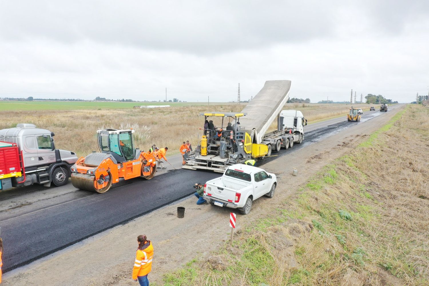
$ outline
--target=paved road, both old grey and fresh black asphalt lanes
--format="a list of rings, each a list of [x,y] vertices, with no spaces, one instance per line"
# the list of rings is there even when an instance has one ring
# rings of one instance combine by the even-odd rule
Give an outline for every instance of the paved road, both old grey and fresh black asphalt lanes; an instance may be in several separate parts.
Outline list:
[[[399,106],[392,107],[390,111]],[[292,149],[282,149],[278,156],[260,161],[260,166],[383,114],[366,112],[361,122],[338,118],[308,125],[302,144],[295,144]],[[179,167],[181,157],[176,156],[170,161]],[[0,193],[0,226],[6,250],[3,271],[25,265],[184,198],[193,193],[194,182],[205,182],[218,176],[220,174],[207,171],[179,169],[160,172],[148,181],[140,178],[122,181],[105,194],[76,190],[71,184],[62,188],[41,189],[33,186]],[[52,196],[52,193],[56,195]],[[17,200],[21,200],[18,206],[8,207]]]

